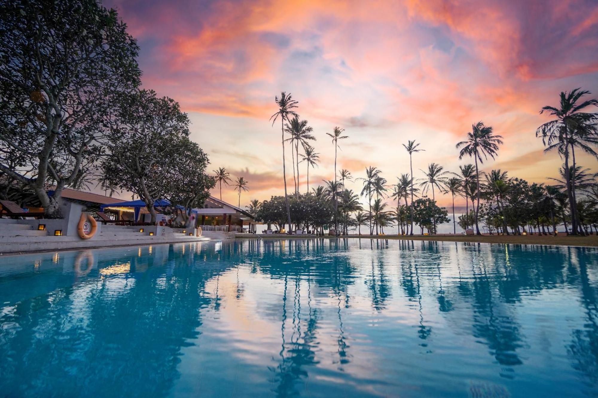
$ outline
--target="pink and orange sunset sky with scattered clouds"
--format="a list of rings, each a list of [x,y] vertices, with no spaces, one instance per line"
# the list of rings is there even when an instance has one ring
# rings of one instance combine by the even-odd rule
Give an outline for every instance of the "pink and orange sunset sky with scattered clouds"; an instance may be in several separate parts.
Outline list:
[[[485,170],[547,182],[561,161],[535,137],[548,120],[539,110],[576,87],[598,97],[596,0],[104,4],[139,41],[144,87],[189,114],[209,170],[249,180],[242,206],[282,192],[280,124],[269,122],[280,91],[292,93],[318,139],[310,186],[334,178],[326,133],[335,126],[349,136],[338,169],[362,177],[376,166],[393,183],[409,172],[409,139],[426,149],[414,156],[414,177],[433,161],[457,171],[468,160],[455,144],[480,120],[505,138]],[[592,158],[579,163],[597,171]],[[300,172],[306,191],[304,163]],[[287,181],[292,191],[290,160]],[[347,187],[361,191],[359,182]],[[230,187],[222,196],[237,203]]]

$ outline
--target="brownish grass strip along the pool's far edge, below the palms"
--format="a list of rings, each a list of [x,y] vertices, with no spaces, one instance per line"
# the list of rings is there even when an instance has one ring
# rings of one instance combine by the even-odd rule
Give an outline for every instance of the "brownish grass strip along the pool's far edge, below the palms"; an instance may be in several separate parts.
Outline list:
[[[256,237],[256,235],[254,235]],[[306,239],[306,238],[335,238],[334,236],[316,235],[283,235],[283,234],[260,234],[263,239]],[[238,237],[237,237],[238,238]],[[246,237],[252,238],[252,237]],[[445,241],[445,242],[469,242],[469,243],[508,243],[508,244],[547,244],[556,246],[585,246],[598,247],[598,235],[590,236],[568,236],[559,234],[552,235],[341,235],[339,238],[352,239],[393,239],[393,240],[424,240],[424,241]]]

